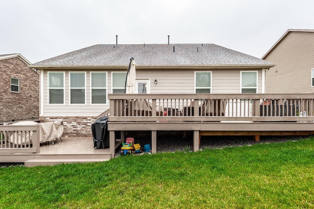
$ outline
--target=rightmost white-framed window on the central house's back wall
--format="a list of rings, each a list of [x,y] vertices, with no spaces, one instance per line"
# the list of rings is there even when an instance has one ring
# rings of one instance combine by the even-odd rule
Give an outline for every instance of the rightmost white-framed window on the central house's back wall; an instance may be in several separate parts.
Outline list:
[[[257,93],[257,71],[241,71],[241,93]]]

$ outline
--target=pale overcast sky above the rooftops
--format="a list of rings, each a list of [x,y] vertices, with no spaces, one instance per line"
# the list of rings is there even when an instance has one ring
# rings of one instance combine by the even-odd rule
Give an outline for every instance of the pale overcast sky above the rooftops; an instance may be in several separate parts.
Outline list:
[[[314,29],[313,11],[314,0],[0,0],[0,54],[35,63],[116,35],[118,44],[167,44],[170,35],[170,44],[261,58],[288,29]]]

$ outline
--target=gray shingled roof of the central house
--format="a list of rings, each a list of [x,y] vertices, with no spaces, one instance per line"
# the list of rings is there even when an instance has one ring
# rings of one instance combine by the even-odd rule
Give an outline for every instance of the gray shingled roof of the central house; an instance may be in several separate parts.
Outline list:
[[[175,52],[173,51],[175,50]],[[215,44],[100,44],[65,53],[32,64],[45,66],[129,65],[261,65],[273,66],[260,58],[236,52]]]

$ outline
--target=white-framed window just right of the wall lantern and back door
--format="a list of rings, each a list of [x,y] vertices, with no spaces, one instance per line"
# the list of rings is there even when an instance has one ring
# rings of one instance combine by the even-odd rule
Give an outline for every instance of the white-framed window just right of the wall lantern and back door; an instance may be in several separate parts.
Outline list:
[[[211,72],[195,72],[195,93],[210,94]]]

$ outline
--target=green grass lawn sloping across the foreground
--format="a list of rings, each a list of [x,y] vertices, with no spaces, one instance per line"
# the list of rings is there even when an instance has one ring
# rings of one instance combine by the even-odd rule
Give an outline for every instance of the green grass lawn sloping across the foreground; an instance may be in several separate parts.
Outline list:
[[[314,208],[314,137],[0,168],[0,208]]]

